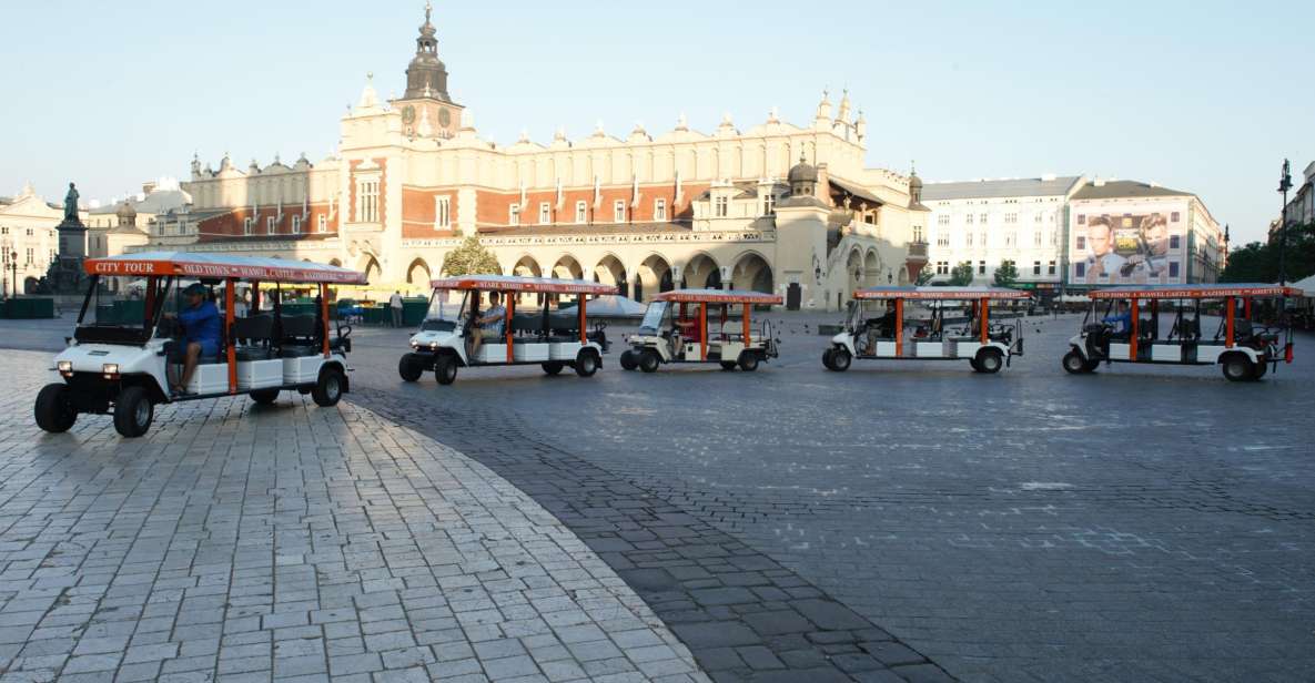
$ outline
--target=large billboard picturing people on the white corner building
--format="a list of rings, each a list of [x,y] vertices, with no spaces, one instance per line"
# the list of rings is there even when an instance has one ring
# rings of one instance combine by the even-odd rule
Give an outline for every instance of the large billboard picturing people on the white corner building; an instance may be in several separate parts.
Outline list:
[[[1102,285],[1181,282],[1169,265],[1169,222],[1162,213],[1088,215],[1082,238],[1085,280]],[[1174,271],[1174,272],[1170,272]]]

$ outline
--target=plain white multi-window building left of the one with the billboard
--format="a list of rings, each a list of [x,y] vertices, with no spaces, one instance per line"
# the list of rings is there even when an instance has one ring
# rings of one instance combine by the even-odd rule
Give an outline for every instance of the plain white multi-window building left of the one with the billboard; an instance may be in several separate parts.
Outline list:
[[[931,209],[927,268],[932,281],[948,281],[955,267],[972,265],[974,285],[992,284],[1009,260],[1014,286],[1056,293],[1064,280],[1064,235],[1069,197],[1080,176],[927,183]]]

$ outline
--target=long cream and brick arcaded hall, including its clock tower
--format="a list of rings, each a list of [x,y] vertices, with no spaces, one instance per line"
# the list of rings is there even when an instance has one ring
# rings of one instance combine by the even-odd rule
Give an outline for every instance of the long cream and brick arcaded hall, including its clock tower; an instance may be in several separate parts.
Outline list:
[[[405,93],[367,81],[338,151],[312,163],[218,168],[192,160],[192,204],[158,217],[141,248],[334,263],[380,290],[413,292],[476,236],[506,275],[617,284],[638,301],[673,288],[776,292],[789,307],[843,306],[853,289],[907,284],[926,264],[920,181],[867,168],[867,121],[823,95],[797,126],[773,112],[711,133],[684,120],[623,138],[600,126],[500,146],[452,100],[430,13]]]

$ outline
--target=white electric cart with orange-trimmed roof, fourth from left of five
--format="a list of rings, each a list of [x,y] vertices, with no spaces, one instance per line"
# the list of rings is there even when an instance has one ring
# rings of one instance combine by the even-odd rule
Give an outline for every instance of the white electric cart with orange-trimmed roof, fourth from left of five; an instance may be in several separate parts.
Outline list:
[[[844,372],[853,359],[967,360],[974,372],[997,373],[1013,356],[1023,355],[1023,326],[1020,320],[993,323],[990,305],[1028,297],[994,286],[860,289],[849,302],[844,331],[822,353],[822,365]],[[878,305],[884,315],[872,317]],[[910,314],[915,315],[913,326],[906,324]]]

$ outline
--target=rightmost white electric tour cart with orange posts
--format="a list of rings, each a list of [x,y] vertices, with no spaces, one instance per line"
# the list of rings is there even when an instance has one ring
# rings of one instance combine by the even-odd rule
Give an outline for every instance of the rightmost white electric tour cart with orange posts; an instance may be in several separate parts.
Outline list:
[[[1278,361],[1293,361],[1293,330],[1253,320],[1256,299],[1298,297],[1277,285],[1128,285],[1097,289],[1081,331],[1069,340],[1064,369],[1094,372],[1101,363],[1215,365],[1233,382],[1260,380]],[[1202,334],[1202,317],[1222,303],[1214,335]],[[1143,309],[1143,305],[1145,309]],[[1166,334],[1160,309],[1170,309]],[[1149,315],[1143,318],[1141,313]]]

